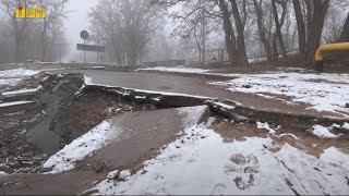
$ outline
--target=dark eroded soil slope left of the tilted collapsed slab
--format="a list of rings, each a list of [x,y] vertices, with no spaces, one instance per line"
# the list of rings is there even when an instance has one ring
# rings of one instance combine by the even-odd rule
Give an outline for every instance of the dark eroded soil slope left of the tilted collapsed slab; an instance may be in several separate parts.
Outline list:
[[[75,95],[83,85],[81,74],[40,73],[7,90],[38,85],[43,89],[31,97],[39,100],[38,107],[0,115],[0,171],[37,173],[50,155],[103,120],[124,112],[156,109],[152,105],[125,102],[101,91]]]

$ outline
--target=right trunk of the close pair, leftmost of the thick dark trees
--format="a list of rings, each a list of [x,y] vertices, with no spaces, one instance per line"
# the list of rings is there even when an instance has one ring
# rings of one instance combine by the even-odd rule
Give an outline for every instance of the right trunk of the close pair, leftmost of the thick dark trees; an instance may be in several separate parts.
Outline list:
[[[232,15],[236,22],[236,26],[237,26],[237,32],[238,32],[238,64],[241,65],[249,65],[249,61],[248,61],[248,56],[246,56],[246,49],[245,49],[245,45],[244,45],[244,28],[243,25],[241,23],[241,17],[240,17],[240,13],[239,13],[239,9],[238,9],[238,4],[237,4],[237,0],[229,0],[231,8],[232,8]]]

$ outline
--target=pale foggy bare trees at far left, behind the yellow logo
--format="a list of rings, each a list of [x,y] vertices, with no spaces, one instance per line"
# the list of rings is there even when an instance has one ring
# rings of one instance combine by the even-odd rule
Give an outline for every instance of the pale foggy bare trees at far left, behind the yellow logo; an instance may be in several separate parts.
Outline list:
[[[68,0],[0,0],[0,62],[60,60],[67,46],[67,5]],[[20,7],[46,9],[46,19],[17,19],[15,9]]]

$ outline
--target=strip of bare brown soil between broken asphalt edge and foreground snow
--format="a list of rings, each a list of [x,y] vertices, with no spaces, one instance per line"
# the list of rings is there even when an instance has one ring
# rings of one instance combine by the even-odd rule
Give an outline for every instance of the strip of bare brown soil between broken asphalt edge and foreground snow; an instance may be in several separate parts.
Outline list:
[[[338,138],[320,138],[313,135],[310,128],[290,126],[289,124],[279,125],[269,123],[269,125],[276,131],[275,135],[267,133],[266,130],[258,130],[254,123],[234,123],[220,118],[217,118],[214,122],[213,128],[221,135],[226,143],[243,140],[244,137],[253,136],[265,138],[268,135],[273,139],[273,147],[269,150],[274,152],[279,151],[285,144],[289,144],[317,158],[329,147],[335,147],[341,152],[349,155],[348,135],[341,135]],[[334,132],[334,134],[336,133]]]

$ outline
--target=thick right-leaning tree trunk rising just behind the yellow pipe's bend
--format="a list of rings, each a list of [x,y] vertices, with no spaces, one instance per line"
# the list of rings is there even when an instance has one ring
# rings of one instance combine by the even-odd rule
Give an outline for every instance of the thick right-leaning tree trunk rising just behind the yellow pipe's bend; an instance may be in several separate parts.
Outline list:
[[[308,62],[314,61],[314,54],[320,46],[321,34],[323,32],[325,17],[329,8],[329,0],[314,0],[314,12],[312,16],[311,29],[308,37]]]

